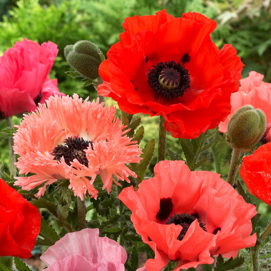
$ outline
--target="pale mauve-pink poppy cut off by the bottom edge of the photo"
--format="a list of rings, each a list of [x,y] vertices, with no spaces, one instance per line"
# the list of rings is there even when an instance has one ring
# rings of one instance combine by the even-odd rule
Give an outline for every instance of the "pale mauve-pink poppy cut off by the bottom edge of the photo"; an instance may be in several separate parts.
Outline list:
[[[67,233],[41,255],[46,271],[124,271],[126,250],[99,229]]]

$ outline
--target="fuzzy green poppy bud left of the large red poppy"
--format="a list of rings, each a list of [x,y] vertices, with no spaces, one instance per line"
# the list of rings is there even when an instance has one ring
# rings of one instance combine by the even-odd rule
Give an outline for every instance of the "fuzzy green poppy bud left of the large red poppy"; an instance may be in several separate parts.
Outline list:
[[[94,80],[99,77],[101,50],[91,41],[82,40],[64,48],[67,62],[81,76]]]

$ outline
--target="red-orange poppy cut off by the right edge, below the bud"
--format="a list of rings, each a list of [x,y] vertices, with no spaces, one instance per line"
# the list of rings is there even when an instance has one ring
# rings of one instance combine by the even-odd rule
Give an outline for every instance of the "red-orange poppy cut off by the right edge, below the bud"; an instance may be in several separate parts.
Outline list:
[[[271,206],[271,143],[245,156],[239,174],[249,192]]]

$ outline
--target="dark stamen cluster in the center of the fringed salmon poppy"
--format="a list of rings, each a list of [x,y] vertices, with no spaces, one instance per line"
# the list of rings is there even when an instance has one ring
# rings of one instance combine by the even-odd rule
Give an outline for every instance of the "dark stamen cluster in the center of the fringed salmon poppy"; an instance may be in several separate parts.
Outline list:
[[[68,137],[64,140],[64,145],[57,145],[53,149],[54,160],[60,161],[62,157],[68,166],[71,165],[71,162],[74,159],[77,159],[79,163],[82,165],[88,166],[88,160],[85,156],[85,149],[91,144],[92,149],[93,143],[92,141],[84,140],[82,137]]]

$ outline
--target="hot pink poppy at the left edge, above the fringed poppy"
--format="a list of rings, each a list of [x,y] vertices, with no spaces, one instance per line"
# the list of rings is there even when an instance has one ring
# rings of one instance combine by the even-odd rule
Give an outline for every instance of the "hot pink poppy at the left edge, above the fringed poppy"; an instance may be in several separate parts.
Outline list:
[[[64,95],[48,77],[57,52],[50,41],[23,39],[0,56],[0,117],[31,112],[50,95]]]

